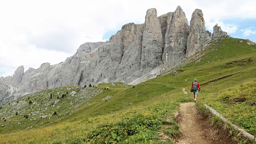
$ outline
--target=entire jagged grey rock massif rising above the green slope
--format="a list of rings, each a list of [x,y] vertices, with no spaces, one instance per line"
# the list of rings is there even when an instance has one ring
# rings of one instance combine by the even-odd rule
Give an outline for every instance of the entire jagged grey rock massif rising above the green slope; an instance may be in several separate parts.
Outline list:
[[[0,105],[25,94],[61,86],[104,82],[138,84],[154,78],[202,50],[211,40],[201,10],[192,14],[191,26],[182,8],[157,17],[146,12],[144,24],[122,26],[107,42],[86,42],[64,62],[41,64],[37,69],[17,68],[0,78]],[[214,26],[212,39],[226,35]]]

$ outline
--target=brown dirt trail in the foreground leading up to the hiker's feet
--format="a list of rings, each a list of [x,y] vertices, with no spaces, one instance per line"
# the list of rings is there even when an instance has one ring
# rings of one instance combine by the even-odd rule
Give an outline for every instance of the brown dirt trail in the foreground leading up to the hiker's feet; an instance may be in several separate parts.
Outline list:
[[[210,126],[194,102],[180,104],[177,121],[182,134],[176,144],[236,144],[223,130]]]

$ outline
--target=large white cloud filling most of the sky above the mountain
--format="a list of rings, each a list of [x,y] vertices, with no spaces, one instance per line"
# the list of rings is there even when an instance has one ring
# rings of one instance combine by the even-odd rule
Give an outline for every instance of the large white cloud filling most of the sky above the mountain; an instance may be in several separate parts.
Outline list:
[[[102,41],[108,30],[143,23],[149,8],[156,8],[160,16],[178,5],[188,21],[196,8],[201,9],[208,30],[218,22],[222,30],[234,33],[238,26],[222,20],[256,18],[254,0],[5,0],[0,4],[0,69],[5,74],[0,76],[13,74],[20,65],[27,69],[62,62],[80,44]]]

